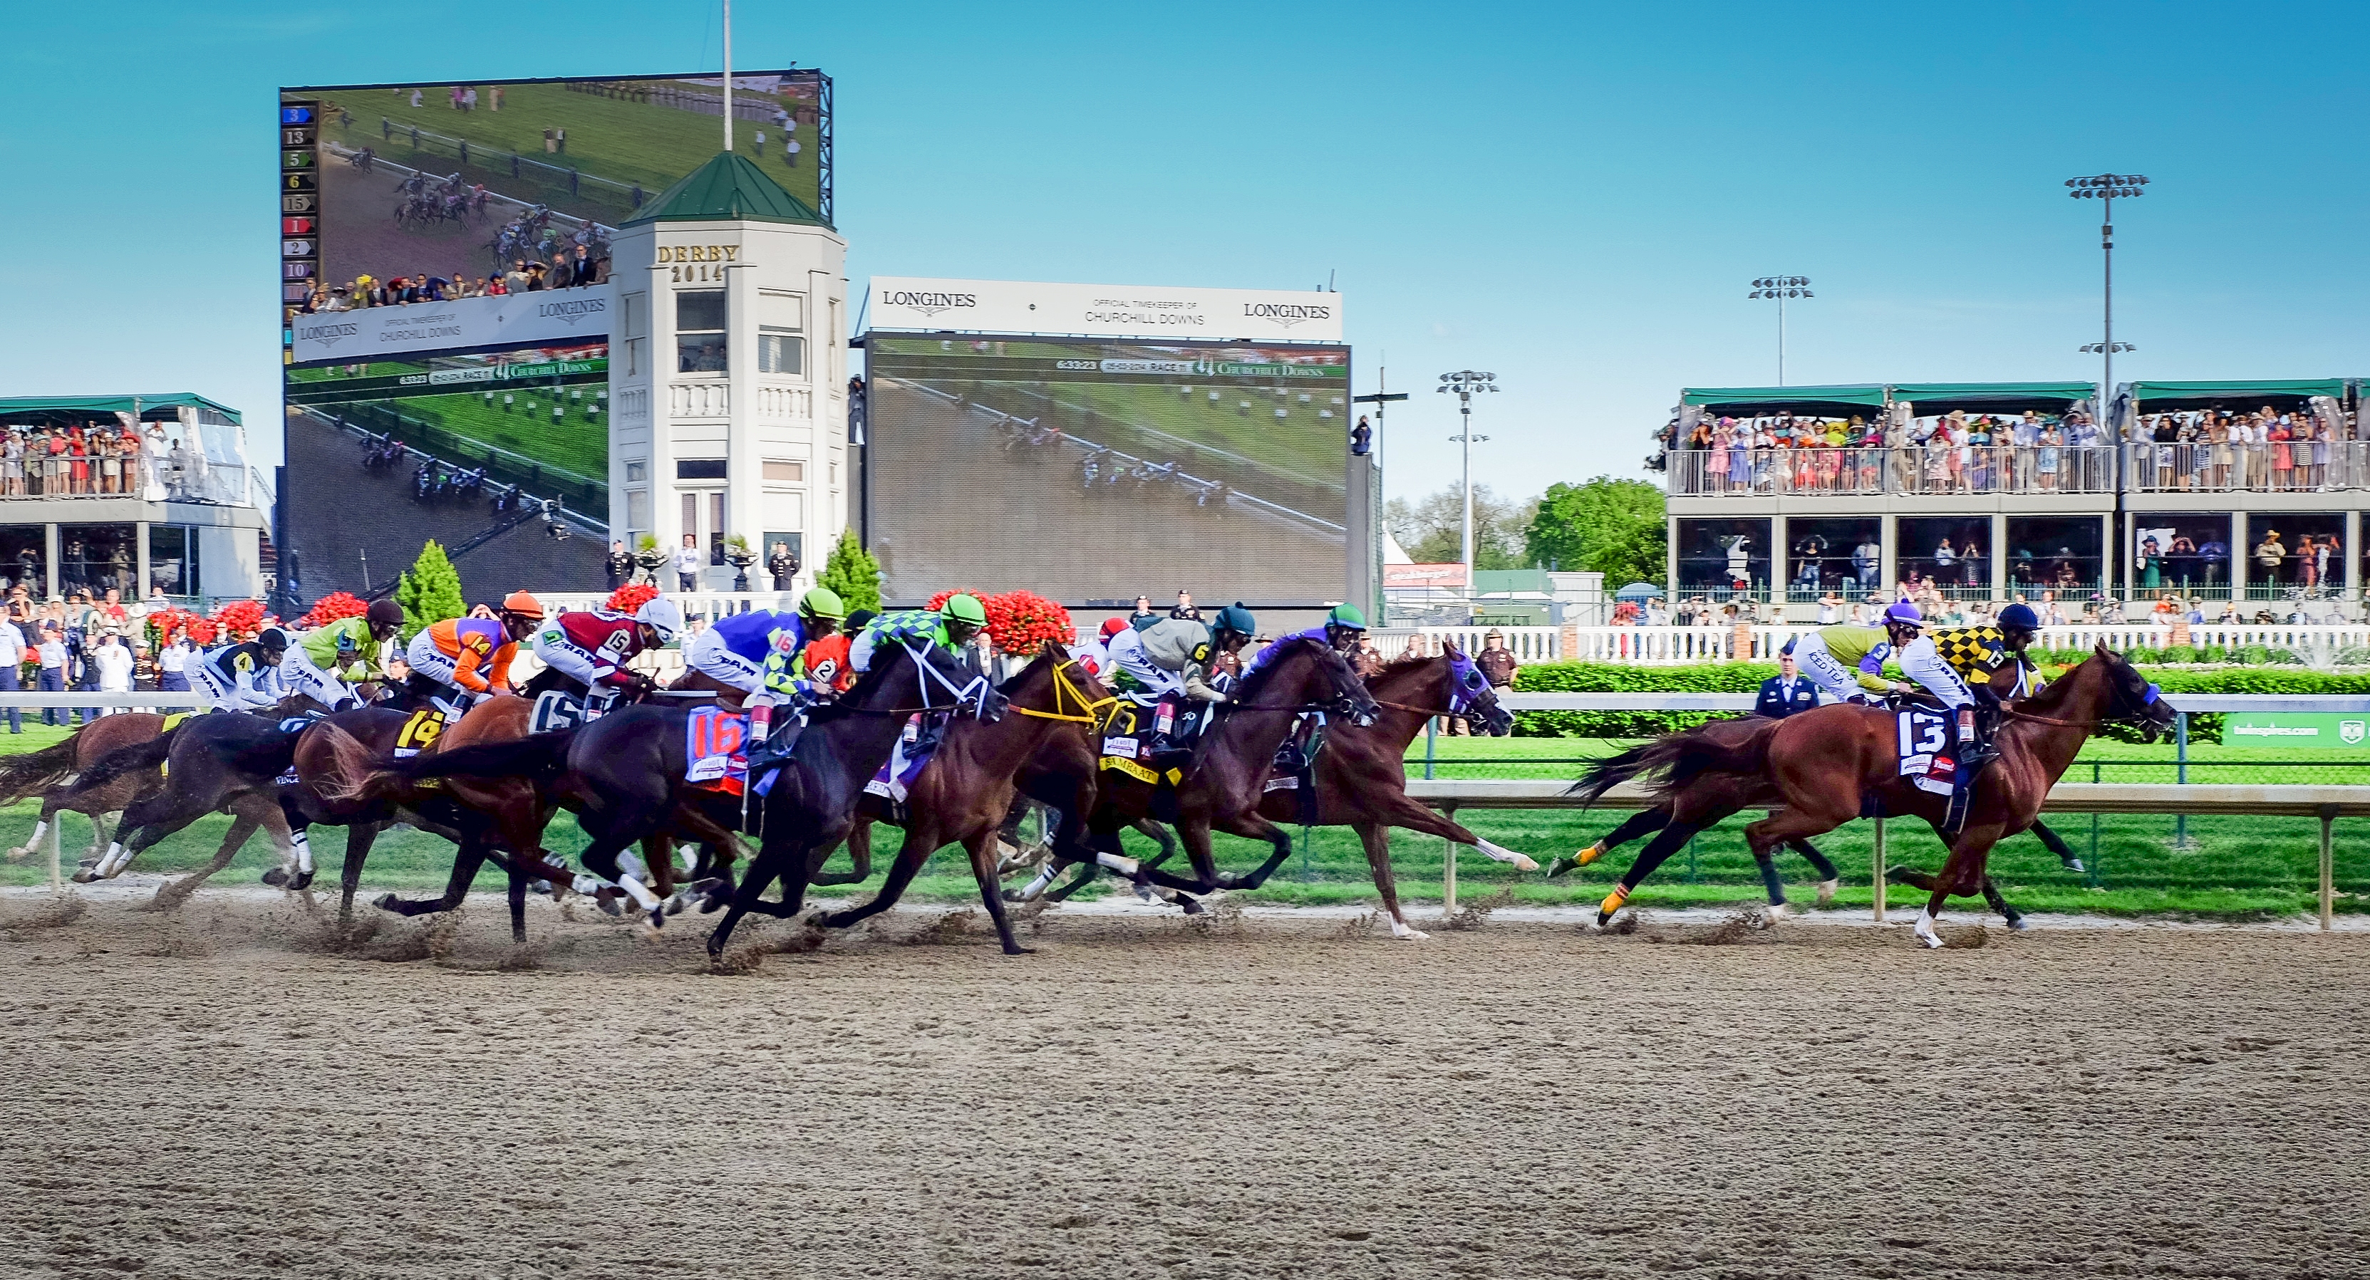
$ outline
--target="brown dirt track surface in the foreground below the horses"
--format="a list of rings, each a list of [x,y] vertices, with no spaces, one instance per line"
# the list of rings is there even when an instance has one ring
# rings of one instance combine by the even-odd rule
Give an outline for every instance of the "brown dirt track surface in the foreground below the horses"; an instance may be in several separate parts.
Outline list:
[[[2365,936],[55,915],[7,1275],[2370,1273]]]

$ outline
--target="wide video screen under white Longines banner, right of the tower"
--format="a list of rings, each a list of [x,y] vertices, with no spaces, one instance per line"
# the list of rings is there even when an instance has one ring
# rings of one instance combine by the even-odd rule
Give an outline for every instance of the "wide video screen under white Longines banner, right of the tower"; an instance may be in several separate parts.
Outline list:
[[[865,372],[889,600],[1346,597],[1346,346],[875,332]]]

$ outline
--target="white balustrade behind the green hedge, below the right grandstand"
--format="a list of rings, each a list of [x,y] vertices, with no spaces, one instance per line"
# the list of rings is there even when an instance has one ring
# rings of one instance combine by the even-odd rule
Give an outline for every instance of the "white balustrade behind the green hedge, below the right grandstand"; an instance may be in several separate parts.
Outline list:
[[[1569,628],[1574,661],[1778,661],[1787,640],[1818,631],[1818,623],[1789,626],[1581,626]],[[2107,645],[2116,652],[2166,649],[2176,631],[2166,623],[2121,626],[2048,626],[2041,628],[2038,647],[2088,649]],[[2292,649],[2304,654],[2337,654],[2344,649],[2370,649],[2370,623],[2192,623],[2190,647],[2221,649]]]

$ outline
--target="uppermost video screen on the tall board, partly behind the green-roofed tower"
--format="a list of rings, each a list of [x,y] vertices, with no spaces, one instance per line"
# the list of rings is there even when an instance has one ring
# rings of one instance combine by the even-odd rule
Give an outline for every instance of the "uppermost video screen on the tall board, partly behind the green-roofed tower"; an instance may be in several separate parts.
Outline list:
[[[735,73],[732,121],[732,149],[830,220],[830,76]],[[718,152],[713,73],[280,90],[282,303],[607,280],[619,223]]]

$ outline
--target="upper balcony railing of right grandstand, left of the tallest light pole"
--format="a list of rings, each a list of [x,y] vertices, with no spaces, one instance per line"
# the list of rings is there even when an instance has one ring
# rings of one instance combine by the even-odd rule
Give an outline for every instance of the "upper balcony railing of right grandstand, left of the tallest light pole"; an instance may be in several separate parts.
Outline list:
[[[2114,446],[1683,448],[1673,498],[2114,493]]]

